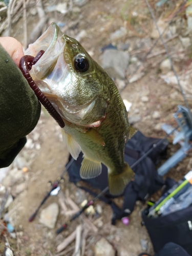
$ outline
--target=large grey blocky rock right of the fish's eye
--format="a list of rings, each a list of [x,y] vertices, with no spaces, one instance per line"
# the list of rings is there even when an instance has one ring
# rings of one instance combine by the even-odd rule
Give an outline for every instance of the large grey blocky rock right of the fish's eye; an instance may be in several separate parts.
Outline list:
[[[124,79],[124,71],[129,65],[130,56],[128,53],[115,49],[107,49],[102,55],[102,68],[114,78]]]

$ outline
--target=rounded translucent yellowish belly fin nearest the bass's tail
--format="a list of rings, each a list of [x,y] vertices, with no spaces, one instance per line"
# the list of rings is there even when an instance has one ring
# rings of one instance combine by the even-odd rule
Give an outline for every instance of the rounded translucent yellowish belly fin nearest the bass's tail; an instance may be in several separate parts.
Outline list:
[[[80,168],[80,176],[83,179],[90,179],[98,176],[101,173],[101,163],[91,160],[84,156],[81,168]]]

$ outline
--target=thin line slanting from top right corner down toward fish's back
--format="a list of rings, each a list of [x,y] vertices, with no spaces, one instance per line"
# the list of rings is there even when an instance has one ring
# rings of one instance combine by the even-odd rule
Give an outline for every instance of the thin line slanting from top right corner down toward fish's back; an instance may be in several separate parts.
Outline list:
[[[181,9],[183,8],[183,6],[186,4],[186,0],[183,2],[183,4],[180,6],[180,8],[178,9],[178,11],[174,14],[174,16],[172,17],[172,19],[170,20],[170,22],[168,23],[168,25],[165,27],[165,29],[163,30],[162,34],[163,35],[165,33],[165,31],[167,30],[167,28],[169,27],[169,25],[172,23],[173,19],[177,16],[177,14],[181,11]],[[140,67],[143,65],[143,63],[145,62],[147,56],[153,51],[153,49],[155,48],[155,46],[157,45],[159,39],[161,37],[159,36],[153,46],[150,48],[150,50],[148,50],[148,52],[145,54],[145,56],[143,57],[143,59],[141,60],[141,63],[137,66],[137,68],[135,69],[135,71],[133,72],[133,74],[131,75],[131,77],[129,78],[129,80],[135,75],[135,73],[140,69]],[[128,80],[128,81],[129,81]],[[125,84],[125,86],[119,91],[120,93],[127,87],[127,85],[129,84],[129,82],[127,84]]]

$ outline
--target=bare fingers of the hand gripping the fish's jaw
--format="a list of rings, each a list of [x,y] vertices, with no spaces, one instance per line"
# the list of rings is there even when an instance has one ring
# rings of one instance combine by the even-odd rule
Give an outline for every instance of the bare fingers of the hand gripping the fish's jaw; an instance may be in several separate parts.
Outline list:
[[[22,44],[20,44],[19,41],[10,36],[0,37],[0,44],[19,67],[20,58],[24,56]]]

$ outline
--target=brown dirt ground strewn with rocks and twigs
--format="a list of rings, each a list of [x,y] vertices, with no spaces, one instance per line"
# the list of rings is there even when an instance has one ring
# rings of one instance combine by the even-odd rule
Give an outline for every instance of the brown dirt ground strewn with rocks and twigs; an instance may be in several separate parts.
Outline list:
[[[181,1],[178,1],[178,3]],[[54,1],[58,4],[59,1]],[[153,10],[155,11],[156,18],[164,17],[167,24],[169,22],[170,14],[175,10],[176,5],[174,1],[169,1],[169,5],[165,5],[161,9],[155,8],[157,1],[150,1]],[[44,6],[52,5],[53,1],[45,1]],[[72,21],[79,20],[75,26],[70,27],[66,33],[69,36],[76,36],[80,31],[86,30],[80,42],[82,46],[90,52],[94,59],[101,63],[101,48],[113,43],[117,49],[121,49],[122,45],[130,44],[128,52],[131,57],[137,58],[137,63],[131,63],[126,71],[127,79],[137,67],[137,64],[147,50],[152,46],[154,39],[150,38],[153,29],[152,18],[144,0],[142,1],[127,1],[127,0],[90,0],[86,4],[78,7],[78,11],[67,13],[63,15],[57,11],[47,13],[49,18],[63,23],[71,23]],[[137,15],[134,16],[133,13]],[[168,14],[169,16],[168,16]],[[131,17],[131,18],[130,18]],[[178,19],[186,17],[183,13],[178,14]],[[30,31],[35,27],[38,21],[38,16],[28,16],[28,36]],[[174,19],[176,22],[176,19]],[[12,29],[12,36],[23,42],[22,21],[15,25]],[[117,39],[115,42],[111,41],[110,35],[124,27],[127,29],[126,35]],[[177,33],[182,34],[182,29],[177,27]],[[181,45],[179,37],[167,42],[168,50],[178,50],[178,45]],[[164,49],[159,42],[154,52]],[[183,49],[184,57],[179,58],[179,54],[174,55],[174,64],[178,72],[185,70],[190,61],[190,49]],[[140,121],[134,123],[139,131],[145,136],[163,138],[165,132],[159,127],[161,123],[168,123],[176,127],[177,123],[173,114],[178,109],[178,104],[184,105],[184,100],[178,88],[171,84],[166,84],[160,78],[160,62],[166,58],[166,55],[158,55],[157,57],[147,59],[143,68],[144,76],[133,83],[128,83],[126,88],[121,92],[123,99],[133,103],[129,112],[129,118],[139,116]],[[117,81],[116,81],[117,82]],[[145,96],[145,100],[143,97]],[[191,106],[191,99],[188,98],[189,105]],[[155,116],[154,113],[158,113]],[[38,137],[38,138],[37,138]],[[60,127],[56,122],[44,111],[41,111],[40,120],[35,127],[34,131],[28,135],[30,143],[19,154],[28,162],[28,172],[24,173],[20,179],[14,180],[11,178],[9,171],[7,177],[2,182],[2,186],[11,187],[11,194],[14,197],[13,203],[10,205],[8,212],[11,218],[11,224],[16,230],[16,239],[11,238],[8,232],[2,234],[0,238],[0,255],[3,253],[5,242],[9,242],[14,255],[57,255],[56,247],[63,239],[69,236],[74,231],[76,226],[81,223],[78,218],[72,222],[66,231],[56,234],[61,224],[66,222],[66,217],[59,211],[58,219],[54,229],[49,229],[43,224],[39,223],[39,214],[35,220],[29,223],[28,219],[31,214],[37,209],[39,203],[49,191],[50,187],[48,182],[54,182],[65,169],[68,161],[69,153],[67,147],[62,142]],[[172,139],[168,149],[167,158],[173,155],[179,148],[177,145],[172,145]],[[172,168],[168,176],[175,180],[180,180],[190,168],[191,153],[180,162],[177,166]],[[64,195],[70,195],[71,199],[80,206],[80,202],[84,199],[92,197],[84,191],[78,189],[74,184],[69,182],[68,175],[64,176],[65,181],[61,183],[61,190]],[[12,182],[12,179],[14,182]],[[16,186],[25,183],[25,189],[20,194],[16,191]],[[1,184],[0,184],[1,185]],[[152,196],[157,199],[157,195]],[[58,203],[58,197],[49,197],[42,208],[46,208],[52,202]],[[122,202],[122,199],[121,201]],[[102,225],[98,227],[97,233],[90,233],[87,239],[86,253],[84,255],[94,255],[94,245],[101,238],[106,238],[113,247],[117,250],[118,256],[137,256],[143,251],[140,240],[148,242],[146,252],[153,255],[153,247],[148,237],[147,231],[144,226],[141,226],[141,210],[145,205],[137,202],[133,213],[130,216],[130,224],[125,226],[121,221],[118,221],[116,226],[111,225],[112,209],[109,205],[101,201],[97,201],[102,207]],[[40,212],[40,211],[39,211]],[[91,221],[95,221],[96,217],[89,216]],[[72,244],[73,246],[74,244]],[[70,245],[71,246],[71,245]],[[74,247],[71,251],[65,254],[58,255],[73,255]]]

